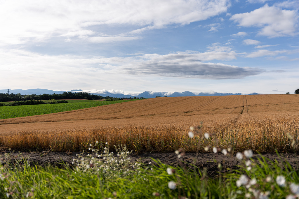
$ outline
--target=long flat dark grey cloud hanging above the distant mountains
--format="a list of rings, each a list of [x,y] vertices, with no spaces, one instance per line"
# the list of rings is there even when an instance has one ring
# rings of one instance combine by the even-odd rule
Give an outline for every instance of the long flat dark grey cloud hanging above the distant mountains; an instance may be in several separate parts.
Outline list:
[[[161,75],[170,77],[189,77],[201,79],[239,79],[266,72],[263,69],[251,67],[237,67],[222,63],[202,63],[190,61],[184,63],[167,63],[148,61],[131,67],[123,68],[133,75]]]

